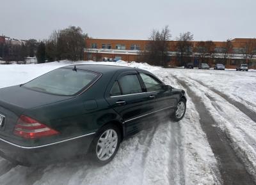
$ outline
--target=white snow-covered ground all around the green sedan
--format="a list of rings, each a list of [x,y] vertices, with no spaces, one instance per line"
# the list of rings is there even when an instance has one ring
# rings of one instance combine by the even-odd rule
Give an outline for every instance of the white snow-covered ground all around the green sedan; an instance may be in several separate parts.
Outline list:
[[[166,84],[182,89],[184,87],[177,78],[184,80],[193,92],[204,97],[205,107],[216,121],[216,126],[227,133],[237,154],[244,158],[248,171],[255,175],[256,123],[211,91],[211,88],[218,89],[253,109],[256,107],[255,71],[163,69],[124,61],[76,62],[90,63],[142,68]],[[0,65],[0,88],[22,84],[67,64],[72,63]],[[113,161],[102,167],[93,166],[88,161],[67,161],[45,167],[12,166],[0,158],[0,184],[221,184],[217,159],[189,96],[184,119],[179,122],[160,119],[157,122],[152,128],[122,142]]]

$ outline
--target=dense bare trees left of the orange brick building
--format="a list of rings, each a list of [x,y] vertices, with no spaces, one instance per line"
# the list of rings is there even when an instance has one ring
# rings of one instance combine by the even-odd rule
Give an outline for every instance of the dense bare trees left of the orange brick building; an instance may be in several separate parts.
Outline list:
[[[0,44],[0,57],[6,63],[10,61],[26,62],[26,57],[35,57],[38,63],[83,60],[85,38],[81,27],[69,26],[53,31],[48,40],[26,40],[21,45],[6,42]]]

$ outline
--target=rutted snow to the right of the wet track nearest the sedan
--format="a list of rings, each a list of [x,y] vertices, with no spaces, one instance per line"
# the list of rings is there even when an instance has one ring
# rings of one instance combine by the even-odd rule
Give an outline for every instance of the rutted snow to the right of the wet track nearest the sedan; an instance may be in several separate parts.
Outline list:
[[[225,98],[211,91],[211,88],[218,89],[255,111],[255,71],[168,71],[182,78],[194,93],[204,98],[204,105],[217,126],[223,129],[246,170],[256,179],[256,123]]]

